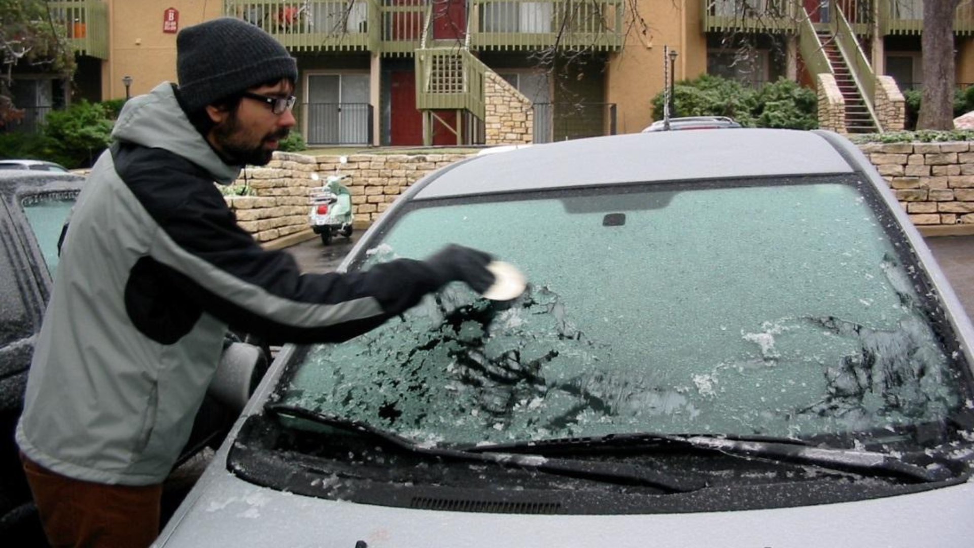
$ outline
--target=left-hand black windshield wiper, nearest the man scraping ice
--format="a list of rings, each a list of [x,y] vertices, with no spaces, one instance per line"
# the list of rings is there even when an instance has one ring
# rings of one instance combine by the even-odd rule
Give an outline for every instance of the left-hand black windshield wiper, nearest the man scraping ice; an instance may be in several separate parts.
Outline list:
[[[642,466],[632,464],[548,458],[537,454],[499,452],[492,450],[457,450],[419,445],[407,438],[387,432],[364,422],[311,411],[286,404],[268,404],[265,411],[277,417],[291,416],[316,424],[331,426],[346,432],[370,436],[413,454],[469,462],[487,462],[508,468],[526,468],[583,480],[595,480],[626,486],[651,487],[668,492],[689,492],[703,489],[706,484],[675,478]]]

